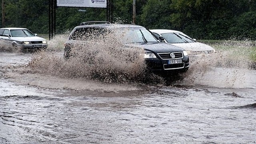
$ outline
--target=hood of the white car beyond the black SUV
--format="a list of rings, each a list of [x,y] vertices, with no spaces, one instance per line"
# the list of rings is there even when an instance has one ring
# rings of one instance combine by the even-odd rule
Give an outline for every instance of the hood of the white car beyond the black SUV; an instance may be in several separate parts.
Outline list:
[[[195,51],[195,52],[214,51],[214,48],[212,48],[211,46],[208,46],[207,44],[203,44],[200,42],[174,43],[172,45],[178,46],[178,47],[183,48],[184,50],[188,50],[188,51]]]

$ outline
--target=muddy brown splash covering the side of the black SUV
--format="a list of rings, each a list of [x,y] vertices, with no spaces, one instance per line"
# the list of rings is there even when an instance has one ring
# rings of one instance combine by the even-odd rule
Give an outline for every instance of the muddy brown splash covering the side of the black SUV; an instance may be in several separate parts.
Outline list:
[[[54,51],[58,46],[50,48]],[[103,43],[80,43],[72,48],[71,55],[70,59],[64,60],[56,53],[40,52],[34,55],[28,67],[42,74],[108,83],[140,81],[145,77],[144,50],[126,48],[113,41],[112,36],[105,37]]]

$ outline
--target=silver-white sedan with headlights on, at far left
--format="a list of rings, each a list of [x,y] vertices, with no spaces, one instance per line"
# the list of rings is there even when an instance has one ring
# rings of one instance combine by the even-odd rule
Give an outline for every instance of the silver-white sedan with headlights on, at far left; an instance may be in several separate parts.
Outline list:
[[[47,48],[47,40],[26,28],[0,28],[0,40],[22,49]]]

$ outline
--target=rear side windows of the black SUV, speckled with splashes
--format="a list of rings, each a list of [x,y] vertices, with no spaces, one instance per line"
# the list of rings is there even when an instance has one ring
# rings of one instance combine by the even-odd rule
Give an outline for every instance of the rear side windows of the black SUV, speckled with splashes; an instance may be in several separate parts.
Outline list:
[[[109,32],[110,31],[106,28],[77,28],[70,37],[70,39],[79,41],[98,42],[100,39],[104,38],[104,36],[106,36],[106,34],[108,34]]]

